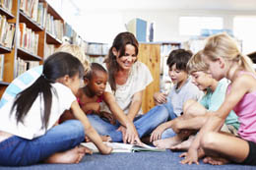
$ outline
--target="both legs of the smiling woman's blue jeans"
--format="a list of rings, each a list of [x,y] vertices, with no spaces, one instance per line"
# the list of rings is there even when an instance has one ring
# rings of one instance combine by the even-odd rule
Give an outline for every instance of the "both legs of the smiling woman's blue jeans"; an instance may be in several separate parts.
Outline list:
[[[155,106],[148,113],[135,118],[134,126],[140,138],[150,135],[161,123],[166,122],[169,117],[168,109],[172,110],[172,106],[163,104]],[[87,115],[96,132],[103,136],[110,136],[112,142],[122,142],[122,133],[116,131],[120,127],[120,123],[111,125],[108,121],[99,118],[97,115]]]

